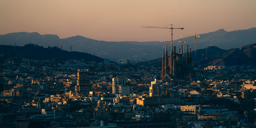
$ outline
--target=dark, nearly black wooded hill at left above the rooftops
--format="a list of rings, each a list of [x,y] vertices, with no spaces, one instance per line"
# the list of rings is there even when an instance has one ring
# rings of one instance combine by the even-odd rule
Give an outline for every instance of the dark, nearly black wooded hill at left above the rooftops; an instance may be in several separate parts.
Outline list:
[[[83,52],[68,52],[58,47],[43,48],[34,44],[26,44],[24,46],[0,45],[0,53],[10,56],[17,56],[32,60],[82,60],[103,62],[104,59]]]

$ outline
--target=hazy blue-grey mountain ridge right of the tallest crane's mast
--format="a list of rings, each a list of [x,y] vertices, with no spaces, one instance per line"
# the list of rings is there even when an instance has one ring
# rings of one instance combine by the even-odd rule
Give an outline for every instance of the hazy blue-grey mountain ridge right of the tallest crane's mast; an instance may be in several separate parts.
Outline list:
[[[221,49],[229,50],[232,48],[239,48],[249,44],[256,43],[256,28],[250,28],[246,30],[236,30],[227,32],[224,29],[219,29],[215,32],[209,32],[206,34],[199,34],[200,38],[196,38],[196,49],[204,49],[211,44]],[[193,33],[192,33],[193,35]],[[181,36],[183,37],[183,36]],[[184,36],[185,37],[185,36]],[[194,37],[185,37],[173,41],[173,44],[178,44],[178,41],[184,40],[186,44],[191,47],[191,50],[195,50],[195,39]],[[181,44],[180,44],[181,45]]]

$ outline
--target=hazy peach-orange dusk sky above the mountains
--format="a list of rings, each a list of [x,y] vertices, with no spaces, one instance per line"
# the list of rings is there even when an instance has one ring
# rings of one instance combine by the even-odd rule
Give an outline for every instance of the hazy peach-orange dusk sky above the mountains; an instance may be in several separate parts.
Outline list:
[[[84,36],[104,41],[169,41],[180,35],[256,27],[256,0],[0,0],[0,35]],[[173,27],[175,27],[173,26]]]

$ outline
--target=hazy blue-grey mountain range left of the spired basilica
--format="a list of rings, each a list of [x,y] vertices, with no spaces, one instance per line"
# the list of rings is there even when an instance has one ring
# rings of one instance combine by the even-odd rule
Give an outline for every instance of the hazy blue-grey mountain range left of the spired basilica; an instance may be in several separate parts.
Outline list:
[[[24,46],[26,44],[37,44],[43,47],[60,47],[63,46],[63,50],[86,52],[95,54],[101,58],[108,59],[126,59],[127,57],[131,61],[135,60],[152,60],[152,58],[158,58],[158,54],[161,53],[162,46],[147,46],[136,45],[127,42],[107,42],[93,40],[83,36],[72,36],[64,39],[60,39],[57,35],[40,35],[37,32],[27,33],[9,33],[0,35],[0,44],[2,45],[14,45]],[[147,43],[146,43],[147,44]],[[154,54],[152,54],[154,53]]]

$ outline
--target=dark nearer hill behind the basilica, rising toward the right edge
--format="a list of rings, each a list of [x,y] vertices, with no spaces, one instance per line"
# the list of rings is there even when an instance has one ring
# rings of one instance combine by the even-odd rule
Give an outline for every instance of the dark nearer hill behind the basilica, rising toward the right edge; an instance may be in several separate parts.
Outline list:
[[[242,66],[242,65],[252,65],[256,66],[256,43],[246,45],[239,50],[239,48],[234,48],[230,50],[223,50],[215,46],[196,50],[196,60],[199,68],[205,68],[207,66]],[[186,55],[186,53],[184,54]],[[192,63],[195,61],[195,52],[191,51]],[[136,65],[143,66],[154,66],[162,67],[162,58],[158,58],[150,61],[141,61],[134,63]]]

